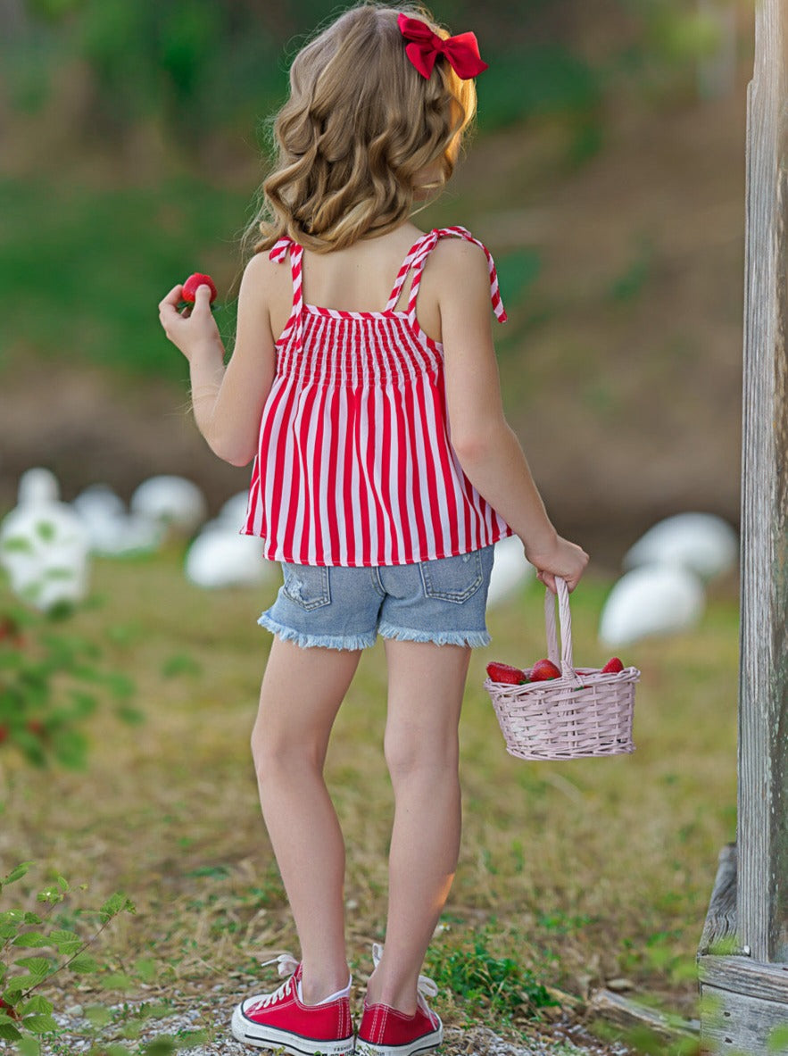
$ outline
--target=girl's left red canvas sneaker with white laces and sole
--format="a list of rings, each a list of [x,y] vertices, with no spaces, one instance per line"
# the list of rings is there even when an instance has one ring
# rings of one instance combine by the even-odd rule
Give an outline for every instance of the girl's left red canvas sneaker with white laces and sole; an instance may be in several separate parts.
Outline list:
[[[259,994],[238,1005],[232,1013],[232,1036],[247,1045],[281,1050],[292,1056],[351,1056],[350,999],[304,1004],[297,988],[301,965],[289,954],[277,960],[280,976],[292,973],[289,978],[273,994]]]

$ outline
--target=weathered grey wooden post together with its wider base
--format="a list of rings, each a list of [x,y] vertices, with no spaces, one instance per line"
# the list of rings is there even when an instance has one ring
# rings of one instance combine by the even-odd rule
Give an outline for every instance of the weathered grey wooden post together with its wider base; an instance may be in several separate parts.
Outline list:
[[[698,950],[707,1052],[788,1052],[788,0],[748,89],[738,829]],[[770,1048],[781,1038],[780,1048]]]

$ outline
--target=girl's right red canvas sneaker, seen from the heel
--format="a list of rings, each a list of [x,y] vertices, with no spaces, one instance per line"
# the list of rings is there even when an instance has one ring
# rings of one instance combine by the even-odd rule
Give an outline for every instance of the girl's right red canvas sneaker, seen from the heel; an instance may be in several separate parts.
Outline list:
[[[373,946],[373,960],[377,966],[382,947]],[[437,1049],[444,1040],[444,1026],[436,1013],[427,1004],[426,997],[434,997],[437,986],[426,976],[418,977],[416,1011],[412,1016],[387,1004],[367,1004],[364,1001],[361,1025],[356,1038],[356,1056],[416,1056]]]

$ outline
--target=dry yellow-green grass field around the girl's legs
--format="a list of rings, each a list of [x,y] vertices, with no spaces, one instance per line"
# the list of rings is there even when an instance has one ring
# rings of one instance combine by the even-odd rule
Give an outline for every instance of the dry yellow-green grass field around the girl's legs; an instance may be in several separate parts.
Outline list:
[[[145,721],[97,714],[85,772],[33,770],[0,750],[0,871],[36,863],[18,895],[54,872],[87,883],[94,905],[128,893],[136,914],[114,922],[102,955],[132,975],[142,965],[147,997],[165,999],[246,993],[268,950],[297,953],[248,753],[269,641],[256,618],[277,584],[207,593],[186,581],[182,555],[171,545],[97,563],[92,599],[70,624],[133,677]],[[609,585],[589,573],[574,596],[580,665],[607,659],[596,627]],[[493,644],[473,656],[462,722],[464,847],[428,959],[447,1023],[534,1030],[524,979],[582,998],[625,977],[639,1000],[695,1014],[695,950],[717,853],[735,834],[737,622],[735,592],[720,587],[694,631],[625,649],[642,671],[633,755],[523,762],[506,754],[482,681],[491,659],[544,655],[541,588],[490,612]],[[357,980],[371,970],[370,942],[383,938],[384,685],[378,645],[362,658],[327,761],[349,847]],[[480,995],[479,979],[507,959],[521,997]],[[68,1004],[72,984],[62,985],[55,1000]]]

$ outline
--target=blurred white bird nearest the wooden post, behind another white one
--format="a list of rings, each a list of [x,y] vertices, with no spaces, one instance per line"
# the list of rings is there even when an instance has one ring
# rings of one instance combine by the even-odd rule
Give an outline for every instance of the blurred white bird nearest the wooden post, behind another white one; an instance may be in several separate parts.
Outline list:
[[[709,581],[736,567],[738,535],[712,513],[677,513],[659,521],[624,554],[624,568],[680,565]]]

